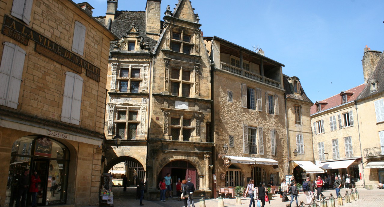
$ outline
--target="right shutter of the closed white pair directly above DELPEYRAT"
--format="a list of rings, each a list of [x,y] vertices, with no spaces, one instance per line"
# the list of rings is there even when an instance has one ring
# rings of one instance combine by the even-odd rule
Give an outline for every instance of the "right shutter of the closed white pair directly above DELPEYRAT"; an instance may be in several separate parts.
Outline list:
[[[83,79],[75,74],[73,98],[71,108],[71,123],[80,124],[80,112],[81,112],[81,95],[83,94]]]

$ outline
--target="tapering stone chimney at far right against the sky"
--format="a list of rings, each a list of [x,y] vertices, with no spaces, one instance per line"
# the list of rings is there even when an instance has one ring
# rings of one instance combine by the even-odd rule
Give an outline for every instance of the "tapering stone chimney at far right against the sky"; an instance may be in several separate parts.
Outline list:
[[[377,62],[379,62],[381,51],[371,50],[366,45],[364,48],[364,56],[362,57],[362,72],[364,74],[364,83],[367,83],[369,77],[371,77]]]

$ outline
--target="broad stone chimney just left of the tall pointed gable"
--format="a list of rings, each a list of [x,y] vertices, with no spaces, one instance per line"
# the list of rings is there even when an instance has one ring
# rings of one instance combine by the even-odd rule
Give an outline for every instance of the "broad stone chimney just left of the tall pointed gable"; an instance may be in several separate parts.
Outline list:
[[[160,33],[160,4],[161,0],[147,0],[146,33]]]

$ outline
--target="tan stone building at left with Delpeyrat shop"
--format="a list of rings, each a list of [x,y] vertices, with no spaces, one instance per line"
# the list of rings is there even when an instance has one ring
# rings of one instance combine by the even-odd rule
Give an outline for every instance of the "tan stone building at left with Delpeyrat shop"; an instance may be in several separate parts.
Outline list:
[[[15,205],[25,169],[40,175],[38,205],[97,205],[108,48],[116,38],[88,3],[0,4],[0,205]]]

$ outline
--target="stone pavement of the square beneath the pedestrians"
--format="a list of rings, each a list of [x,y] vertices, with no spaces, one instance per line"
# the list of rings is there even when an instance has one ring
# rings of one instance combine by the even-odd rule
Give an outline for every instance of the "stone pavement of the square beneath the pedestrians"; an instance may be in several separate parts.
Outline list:
[[[347,189],[341,189],[341,195],[345,195]],[[122,188],[114,188],[114,207],[133,207],[133,206],[139,206],[139,199],[134,198],[134,194],[136,194],[136,187],[128,188],[127,192],[123,192]],[[351,190],[348,190],[348,192],[351,192]],[[384,190],[366,190],[366,189],[358,189],[360,199],[353,201],[349,204],[345,203],[345,200],[343,199],[343,204],[345,207],[362,207],[362,206],[370,206],[370,207],[379,207],[384,206]],[[326,199],[329,198],[330,194],[335,194],[335,190],[326,190],[323,192],[324,196],[326,196]],[[195,207],[200,207],[199,199],[195,197]],[[144,206],[147,207],[184,207],[184,204],[182,201],[177,201],[177,198],[174,196],[173,200],[170,198],[166,199],[166,202],[161,202],[160,200],[157,201],[148,201],[143,200]],[[250,203],[250,198],[244,198],[242,197],[242,205],[236,205],[236,199],[223,199],[224,205],[227,206],[238,206],[238,207],[248,207]],[[291,198],[290,198],[291,200]],[[300,201],[303,200],[303,202],[306,202],[306,197],[303,192],[300,192],[298,196],[298,201],[300,204]],[[290,202],[281,202],[281,198],[279,195],[276,197],[273,197],[272,200],[270,200],[271,204],[266,202],[265,207],[286,207],[286,204],[289,204]],[[207,199],[205,200],[205,206],[206,207],[217,207],[218,205],[218,199]],[[292,206],[296,206],[295,201],[292,203]],[[319,206],[319,205],[318,205]],[[329,200],[328,200],[328,206],[330,207]],[[338,203],[336,200],[336,207],[338,207]]]

